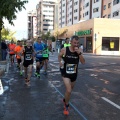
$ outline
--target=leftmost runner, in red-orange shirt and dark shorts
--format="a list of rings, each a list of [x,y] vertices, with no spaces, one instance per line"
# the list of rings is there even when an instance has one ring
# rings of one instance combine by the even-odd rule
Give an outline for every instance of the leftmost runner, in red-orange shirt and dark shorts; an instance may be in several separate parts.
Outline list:
[[[11,43],[8,46],[11,65],[14,63],[14,55],[15,55],[14,49],[15,49],[15,47],[16,47],[16,45],[14,44],[14,41],[11,40]]]

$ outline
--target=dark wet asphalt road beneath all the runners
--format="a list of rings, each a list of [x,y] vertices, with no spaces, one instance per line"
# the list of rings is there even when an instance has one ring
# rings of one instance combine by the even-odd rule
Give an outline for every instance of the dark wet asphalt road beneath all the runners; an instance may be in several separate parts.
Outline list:
[[[0,120],[120,120],[120,58],[84,55],[71,94],[70,115],[63,115],[65,87],[59,72],[57,53],[50,55],[48,75],[32,76],[31,87],[14,66],[2,77]],[[35,65],[34,65],[35,67]]]

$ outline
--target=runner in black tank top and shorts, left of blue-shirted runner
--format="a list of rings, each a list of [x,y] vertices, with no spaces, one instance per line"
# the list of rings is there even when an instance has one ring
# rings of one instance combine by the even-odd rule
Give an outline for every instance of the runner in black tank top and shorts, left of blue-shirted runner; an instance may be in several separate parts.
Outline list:
[[[34,50],[31,46],[31,41],[26,41],[26,46],[23,47],[23,66],[24,66],[24,72],[25,72],[25,83],[26,85],[30,86],[30,79],[32,75],[32,68],[33,68],[33,55]]]

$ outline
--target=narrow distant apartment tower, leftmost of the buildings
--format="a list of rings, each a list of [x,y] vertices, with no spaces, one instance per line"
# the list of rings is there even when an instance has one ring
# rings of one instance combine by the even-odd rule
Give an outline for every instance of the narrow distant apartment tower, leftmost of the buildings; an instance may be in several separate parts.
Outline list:
[[[37,36],[37,19],[36,11],[32,10],[27,14],[28,18],[28,39],[36,38]]]

